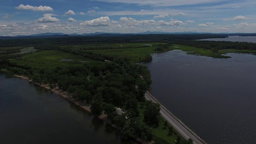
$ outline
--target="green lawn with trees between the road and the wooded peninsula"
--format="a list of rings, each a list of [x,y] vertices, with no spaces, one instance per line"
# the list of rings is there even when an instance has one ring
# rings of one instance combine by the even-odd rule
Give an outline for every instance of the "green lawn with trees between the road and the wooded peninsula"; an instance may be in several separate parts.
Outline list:
[[[138,111],[141,114],[139,116],[139,119],[143,122],[145,108],[140,108],[140,105],[139,105]],[[152,128],[151,131],[152,131],[153,135],[158,136],[159,138],[162,138],[162,139],[166,140],[170,144],[175,144],[174,140],[176,140],[177,136],[174,135],[174,133],[172,133],[171,136],[168,135],[169,130],[168,130],[168,128],[164,128],[164,122],[165,122],[164,118],[161,117],[160,122],[159,122],[159,126],[157,126],[157,127],[156,126],[150,126],[150,125],[148,125],[147,122],[144,122],[144,123],[147,124],[148,126],[150,126],[150,128]],[[170,126],[170,124],[168,124],[168,125]]]

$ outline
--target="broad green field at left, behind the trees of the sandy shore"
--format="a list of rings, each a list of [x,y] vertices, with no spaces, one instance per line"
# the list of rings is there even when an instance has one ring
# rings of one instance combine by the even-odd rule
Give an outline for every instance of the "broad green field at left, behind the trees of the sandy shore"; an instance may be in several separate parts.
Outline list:
[[[62,59],[72,59],[72,61],[62,62]],[[70,54],[58,50],[43,50],[33,54],[22,56],[22,60],[11,59],[12,62],[21,65],[28,65],[33,68],[55,68],[56,66],[69,66],[73,64],[99,64],[100,61],[92,60],[84,56]],[[83,61],[83,62],[80,62]]]

